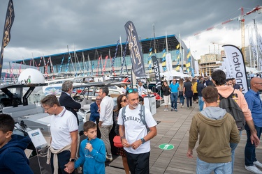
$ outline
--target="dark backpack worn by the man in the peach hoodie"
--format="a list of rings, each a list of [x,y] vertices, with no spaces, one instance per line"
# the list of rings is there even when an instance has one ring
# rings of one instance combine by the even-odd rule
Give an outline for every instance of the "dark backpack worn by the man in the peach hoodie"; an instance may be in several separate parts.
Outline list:
[[[230,113],[231,116],[233,116],[238,130],[242,131],[243,129],[245,129],[245,116],[242,109],[240,109],[240,106],[238,106],[238,103],[235,102],[235,100],[233,99],[234,92],[235,90],[233,90],[233,93],[231,93],[231,95],[229,95],[227,98],[222,97],[219,94],[219,107],[222,109],[226,109],[226,111]]]

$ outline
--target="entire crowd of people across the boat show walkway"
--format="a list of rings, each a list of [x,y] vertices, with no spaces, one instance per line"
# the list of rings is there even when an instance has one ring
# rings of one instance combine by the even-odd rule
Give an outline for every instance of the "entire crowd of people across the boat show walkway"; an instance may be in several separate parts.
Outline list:
[[[108,88],[100,88],[96,101],[90,106],[89,121],[83,127],[87,139],[81,143],[77,116],[81,106],[71,97],[73,83],[64,82],[59,100],[55,95],[44,97],[41,105],[51,119],[47,163],[50,164],[52,173],[75,173],[75,170],[81,171],[80,166],[83,173],[105,173],[105,161],[112,161],[109,134],[114,122],[115,134],[120,136],[123,146],[117,148],[117,155],[122,157],[125,173],[150,173],[150,139],[157,135],[157,122],[150,110],[143,106],[141,94],[144,90],[141,82],[138,83],[138,88],[124,88],[125,93],[117,97],[114,107]],[[173,79],[170,84],[169,81],[163,81],[161,90],[164,111],[168,111],[169,102],[170,111],[178,111],[177,105],[182,109],[184,99],[187,109],[192,107],[193,102],[198,103],[199,112],[192,118],[187,150],[187,157],[192,158],[196,142],[199,141],[196,148],[196,173],[233,173],[235,149],[240,142],[242,129],[236,125],[232,113],[219,107],[221,97],[231,96],[245,117],[245,168],[252,173],[262,173],[259,170],[262,164],[256,158],[256,147],[262,133],[262,102],[259,96],[259,90],[262,90],[261,78],[252,77],[250,89],[245,95],[236,80],[226,79],[222,70],[214,71],[211,77]],[[0,172],[17,173],[16,170],[24,168],[24,173],[32,173],[23,152],[30,139],[12,135],[13,129],[13,118],[1,114],[0,137],[3,139],[0,139],[0,159],[4,157],[10,163],[12,159],[8,159],[8,153],[13,153],[23,163],[17,168],[12,168],[7,162],[2,163]],[[98,129],[101,139],[97,135]],[[22,143],[20,148],[12,146],[17,141]]]

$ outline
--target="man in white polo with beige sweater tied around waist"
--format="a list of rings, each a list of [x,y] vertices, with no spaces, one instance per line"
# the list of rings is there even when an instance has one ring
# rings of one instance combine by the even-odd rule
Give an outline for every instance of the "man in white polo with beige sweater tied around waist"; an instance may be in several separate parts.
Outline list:
[[[51,161],[52,173],[64,174],[65,165],[74,168],[78,145],[78,123],[71,111],[60,106],[55,95],[45,96],[41,104],[45,113],[51,116],[51,144],[47,162],[49,164]]]

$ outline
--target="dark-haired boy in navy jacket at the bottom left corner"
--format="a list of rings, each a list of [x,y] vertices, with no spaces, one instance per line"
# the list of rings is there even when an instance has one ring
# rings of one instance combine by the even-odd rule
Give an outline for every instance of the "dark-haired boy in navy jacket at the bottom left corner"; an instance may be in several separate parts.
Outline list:
[[[0,115],[0,173],[29,173],[29,160],[24,150],[31,139],[27,136],[12,135],[15,120],[8,114]]]

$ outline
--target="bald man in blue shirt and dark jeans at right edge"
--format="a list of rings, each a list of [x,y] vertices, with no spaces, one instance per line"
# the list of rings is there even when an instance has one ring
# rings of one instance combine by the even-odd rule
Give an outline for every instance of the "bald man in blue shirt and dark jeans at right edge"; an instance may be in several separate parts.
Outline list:
[[[262,133],[262,103],[259,96],[259,90],[262,90],[262,79],[253,77],[250,81],[251,88],[245,93],[248,107],[252,113],[252,118],[256,128],[257,136],[260,139]],[[247,131],[247,143],[245,147],[245,168],[253,173],[262,173],[259,168],[262,164],[256,159],[256,146],[250,141],[250,129],[248,125],[245,127]],[[257,168],[259,167],[259,168]]]

